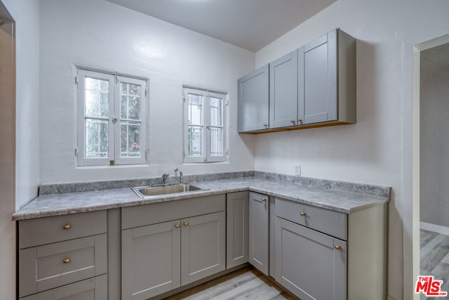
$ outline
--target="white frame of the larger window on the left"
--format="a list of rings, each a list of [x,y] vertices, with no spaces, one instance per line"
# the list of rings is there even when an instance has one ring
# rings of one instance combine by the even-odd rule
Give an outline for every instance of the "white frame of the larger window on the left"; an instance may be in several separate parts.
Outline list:
[[[88,117],[85,115],[85,79],[86,77],[109,81],[109,116],[108,117]],[[77,126],[78,145],[76,148],[77,164],[83,166],[109,166],[126,164],[146,164],[147,163],[147,81],[144,79],[124,77],[105,72],[78,69],[76,76],[77,87]],[[139,84],[140,88],[140,157],[120,157],[120,84]],[[86,157],[86,119],[102,119],[108,121],[108,155],[107,157],[91,158]]]

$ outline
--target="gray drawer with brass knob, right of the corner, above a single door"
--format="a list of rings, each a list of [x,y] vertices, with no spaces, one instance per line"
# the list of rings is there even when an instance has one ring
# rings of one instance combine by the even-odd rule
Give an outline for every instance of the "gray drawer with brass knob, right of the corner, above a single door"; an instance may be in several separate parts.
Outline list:
[[[347,215],[338,211],[276,198],[276,216],[347,240]]]

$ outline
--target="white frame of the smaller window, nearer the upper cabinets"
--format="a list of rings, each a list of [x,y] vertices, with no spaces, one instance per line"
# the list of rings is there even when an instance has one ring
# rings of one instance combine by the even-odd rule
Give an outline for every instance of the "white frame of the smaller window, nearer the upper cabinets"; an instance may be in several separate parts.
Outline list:
[[[196,124],[198,126],[202,126],[203,128],[203,149],[202,149],[202,156],[197,157],[190,157],[188,156],[188,114],[189,114],[189,94],[199,95],[203,96],[203,124]],[[220,98],[222,99],[222,126],[219,126],[222,128],[223,132],[223,149],[222,149],[222,155],[221,156],[212,156],[210,153],[210,110],[205,109],[210,105],[210,97],[213,98]],[[204,89],[195,89],[191,87],[184,87],[183,88],[183,102],[184,102],[184,162],[201,162],[201,163],[208,163],[208,162],[226,162],[227,161],[227,155],[228,155],[228,149],[227,149],[227,93],[218,93],[213,91],[207,91]]]

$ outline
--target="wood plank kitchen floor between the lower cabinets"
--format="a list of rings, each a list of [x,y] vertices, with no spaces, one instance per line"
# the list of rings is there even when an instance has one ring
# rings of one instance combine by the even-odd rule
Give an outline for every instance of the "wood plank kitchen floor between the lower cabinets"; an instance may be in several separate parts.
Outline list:
[[[271,280],[252,267],[236,270],[234,273],[203,283],[185,292],[180,292],[165,300],[230,300],[257,299],[281,300],[297,299],[284,292]]]

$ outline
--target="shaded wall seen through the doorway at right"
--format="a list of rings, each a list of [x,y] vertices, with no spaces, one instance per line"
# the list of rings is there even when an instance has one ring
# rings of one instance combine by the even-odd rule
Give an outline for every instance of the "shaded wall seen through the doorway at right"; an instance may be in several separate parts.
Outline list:
[[[421,52],[421,221],[449,227],[449,44]]]

